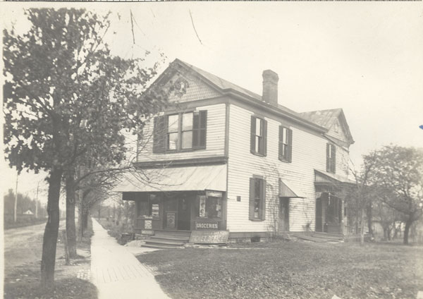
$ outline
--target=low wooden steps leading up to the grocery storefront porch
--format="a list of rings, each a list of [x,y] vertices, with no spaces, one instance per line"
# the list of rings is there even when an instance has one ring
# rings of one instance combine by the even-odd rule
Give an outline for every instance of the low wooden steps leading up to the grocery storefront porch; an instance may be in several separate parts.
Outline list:
[[[190,240],[190,231],[155,231],[154,236],[145,240],[142,247],[173,249],[180,248]]]

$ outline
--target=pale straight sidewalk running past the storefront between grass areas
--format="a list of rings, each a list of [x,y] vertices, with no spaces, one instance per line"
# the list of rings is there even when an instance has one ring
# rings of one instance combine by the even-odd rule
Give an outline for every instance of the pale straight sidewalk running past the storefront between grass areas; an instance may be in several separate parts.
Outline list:
[[[92,229],[91,280],[99,290],[99,299],[168,298],[149,270],[95,219]]]

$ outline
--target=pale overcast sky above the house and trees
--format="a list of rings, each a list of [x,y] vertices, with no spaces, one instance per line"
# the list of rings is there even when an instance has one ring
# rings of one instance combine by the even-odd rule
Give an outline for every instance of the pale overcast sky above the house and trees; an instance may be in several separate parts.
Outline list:
[[[0,5],[2,25],[9,28],[16,22],[20,30],[27,26],[22,8],[39,6]],[[270,68],[279,75],[279,104],[298,112],[343,108],[355,140],[350,147],[355,164],[360,164],[362,154],[382,145],[423,147],[420,2],[83,3],[73,7],[114,13],[111,29],[116,34],[107,37],[114,54],[142,56],[147,49],[154,57],[162,51],[168,58],[162,70],[178,58],[258,94],[262,71]],[[136,20],[135,46],[130,10]],[[4,193],[15,188],[16,181],[16,171],[5,167],[1,171]],[[23,174],[18,189],[32,195],[40,180],[41,176]]]

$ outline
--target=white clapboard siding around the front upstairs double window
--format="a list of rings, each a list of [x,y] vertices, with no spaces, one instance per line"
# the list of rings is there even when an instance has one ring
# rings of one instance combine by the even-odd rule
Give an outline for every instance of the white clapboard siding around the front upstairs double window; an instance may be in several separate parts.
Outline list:
[[[140,141],[137,161],[145,162],[223,156],[225,150],[225,104],[198,106],[197,110],[207,110],[207,141],[205,150],[153,153],[152,132],[154,121],[151,120],[143,130],[143,138]]]

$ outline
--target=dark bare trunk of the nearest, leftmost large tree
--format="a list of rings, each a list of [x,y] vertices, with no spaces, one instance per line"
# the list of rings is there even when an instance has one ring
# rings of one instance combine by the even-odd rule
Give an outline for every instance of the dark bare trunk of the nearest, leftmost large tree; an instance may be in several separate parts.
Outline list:
[[[41,286],[50,288],[54,284],[54,266],[56,262],[56,244],[59,233],[59,197],[63,171],[53,167],[49,177],[49,195],[47,214],[49,216],[44,229],[41,259]]]

